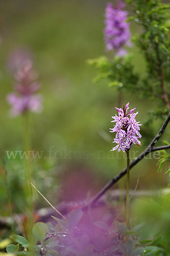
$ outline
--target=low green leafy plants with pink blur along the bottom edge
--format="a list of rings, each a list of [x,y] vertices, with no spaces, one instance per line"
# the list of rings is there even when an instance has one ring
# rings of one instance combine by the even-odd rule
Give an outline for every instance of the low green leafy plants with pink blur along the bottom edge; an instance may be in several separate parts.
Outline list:
[[[111,225],[103,221],[89,223],[93,232],[85,232],[77,225],[82,220],[82,210],[75,209],[68,214],[67,220],[52,216],[56,224],[37,222],[34,235],[34,255],[71,255],[71,256],[150,256],[162,249],[153,246],[151,240],[140,239],[139,232],[144,224],[138,224],[130,218],[130,226],[116,219]],[[81,226],[81,225],[80,225]],[[30,255],[30,244],[22,236],[10,236],[16,244],[9,244],[8,253]],[[22,250],[22,248],[26,248]]]

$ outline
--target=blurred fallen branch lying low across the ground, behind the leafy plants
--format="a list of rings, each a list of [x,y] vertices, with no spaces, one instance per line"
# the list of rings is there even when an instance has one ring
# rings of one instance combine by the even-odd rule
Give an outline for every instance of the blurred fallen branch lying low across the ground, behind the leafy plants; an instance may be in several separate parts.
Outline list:
[[[129,195],[131,196],[133,194],[133,189],[130,189]],[[153,195],[156,195],[158,191],[154,190],[136,190],[133,198],[140,198],[140,197],[151,197]],[[170,194],[170,189],[160,189],[159,190],[161,195],[169,195]],[[110,190],[109,194],[103,195],[99,201],[97,202],[96,205],[92,205],[91,209],[99,209],[100,207],[107,207],[108,206],[108,201],[119,201],[122,200],[122,198],[125,200],[126,199],[126,192],[125,190],[120,190],[120,189],[114,189]],[[132,199],[133,200],[133,199]],[[65,202],[62,201],[60,202],[55,208],[59,209],[59,212],[62,212],[64,215],[67,215],[70,212],[70,209],[73,208],[73,206],[77,208],[83,208],[87,204],[86,200],[80,200],[80,201],[69,201]],[[55,211],[56,212],[56,211]],[[51,220],[51,215],[55,214],[54,209],[51,207],[47,208],[41,208],[35,211],[35,214],[37,215],[38,219],[37,221],[43,221],[43,222],[48,222]],[[20,214],[14,214],[14,224],[15,228],[17,228],[19,234],[22,234],[23,232],[23,222],[25,218],[24,213]],[[4,217],[0,216],[0,229],[11,229],[11,217]]]

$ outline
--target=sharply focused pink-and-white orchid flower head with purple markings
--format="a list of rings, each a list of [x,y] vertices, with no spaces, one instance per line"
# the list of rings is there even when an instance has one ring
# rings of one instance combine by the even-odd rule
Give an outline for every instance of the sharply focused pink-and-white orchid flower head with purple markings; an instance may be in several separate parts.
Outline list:
[[[116,143],[117,145],[112,148],[111,151],[119,148],[118,151],[122,150],[125,152],[125,150],[131,148],[133,145],[141,145],[139,138],[141,138],[142,135],[139,133],[139,126],[142,124],[136,122],[136,115],[138,112],[133,113],[136,108],[131,109],[129,112],[128,109],[129,102],[123,109],[116,108],[119,116],[112,116],[114,120],[111,122],[116,122],[116,124],[113,128],[110,128],[110,132],[116,132],[116,138],[113,143]]]

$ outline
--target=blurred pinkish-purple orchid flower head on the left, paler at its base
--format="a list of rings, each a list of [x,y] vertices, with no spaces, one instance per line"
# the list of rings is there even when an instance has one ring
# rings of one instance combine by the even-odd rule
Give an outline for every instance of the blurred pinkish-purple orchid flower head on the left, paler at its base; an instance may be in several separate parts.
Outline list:
[[[15,74],[17,93],[9,93],[8,103],[11,105],[11,115],[17,116],[26,111],[40,112],[42,110],[42,96],[34,95],[40,84],[36,82],[37,73],[34,72],[32,62],[27,60]]]

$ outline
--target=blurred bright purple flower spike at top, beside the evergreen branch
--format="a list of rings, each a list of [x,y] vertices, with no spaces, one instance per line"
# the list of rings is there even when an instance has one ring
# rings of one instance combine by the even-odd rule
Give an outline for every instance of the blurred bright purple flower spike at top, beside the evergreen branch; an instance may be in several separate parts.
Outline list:
[[[116,55],[124,56],[127,51],[122,47],[130,47],[130,24],[126,22],[127,11],[122,9],[125,3],[117,1],[114,6],[108,3],[105,9],[105,44],[108,51],[115,50]]]

